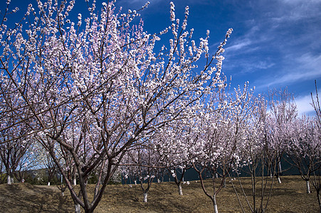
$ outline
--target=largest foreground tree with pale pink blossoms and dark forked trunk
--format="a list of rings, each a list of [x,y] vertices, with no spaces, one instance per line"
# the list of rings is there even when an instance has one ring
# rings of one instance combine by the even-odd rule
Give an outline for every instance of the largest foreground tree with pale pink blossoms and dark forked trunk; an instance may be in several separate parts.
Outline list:
[[[132,20],[139,11],[122,13],[115,1],[101,7],[88,3],[88,13],[70,17],[75,1],[38,2],[28,6],[26,15],[15,26],[1,21],[1,88],[7,95],[1,119],[14,114],[14,124],[1,125],[1,133],[17,125],[28,129],[22,136],[33,136],[50,153],[75,202],[93,212],[107,182],[129,148],[140,138],[170,121],[182,118],[212,87],[221,84],[223,45],[209,52],[209,32],[199,44],[183,23],[175,19],[159,34],[149,35],[142,21]],[[9,4],[9,1],[8,1]],[[146,7],[147,4],[144,6]],[[9,17],[10,18],[10,17]],[[171,33],[169,44],[157,51],[162,34]],[[205,58],[204,66],[197,62]],[[2,105],[1,105],[2,107]],[[5,135],[1,143],[7,143]],[[54,147],[68,159],[63,166]],[[70,166],[77,171],[80,191],[68,178]],[[88,175],[100,170],[93,199],[88,197]]]

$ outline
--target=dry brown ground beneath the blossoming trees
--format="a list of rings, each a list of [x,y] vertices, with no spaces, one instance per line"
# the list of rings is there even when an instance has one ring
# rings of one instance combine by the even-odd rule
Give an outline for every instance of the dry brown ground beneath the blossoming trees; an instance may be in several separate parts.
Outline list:
[[[298,176],[281,178],[273,185],[273,194],[267,212],[318,212],[317,196],[312,185],[312,193],[306,193],[305,182]],[[236,180],[233,181],[236,185]],[[250,182],[242,180],[245,192],[250,193]],[[210,188],[211,182],[206,184]],[[258,182],[259,187],[260,182]],[[88,186],[93,192],[93,185]],[[70,193],[66,190],[62,196],[56,186],[39,186],[28,183],[0,185],[0,212],[74,212]],[[260,193],[260,192],[258,192]],[[183,185],[183,194],[178,195],[174,182],[153,183],[148,194],[148,202],[142,202],[140,185],[108,185],[105,195],[95,212],[213,212],[212,202],[206,197],[199,182],[191,181]],[[239,195],[245,212],[251,212],[246,206],[243,195]],[[248,197],[249,202],[253,199]],[[266,200],[266,198],[265,198]],[[227,182],[217,195],[219,212],[242,212],[236,194]],[[259,200],[257,201],[259,202]]]

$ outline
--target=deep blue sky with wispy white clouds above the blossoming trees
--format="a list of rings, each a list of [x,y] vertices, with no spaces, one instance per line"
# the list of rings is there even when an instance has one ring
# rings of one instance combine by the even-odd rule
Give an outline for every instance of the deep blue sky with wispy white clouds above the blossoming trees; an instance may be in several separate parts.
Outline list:
[[[0,3],[3,11],[5,2]],[[83,1],[83,0],[76,0]],[[149,0],[141,12],[144,29],[157,33],[171,24],[169,0]],[[176,17],[184,18],[189,6],[187,28],[194,28],[194,39],[210,33],[212,53],[228,28],[233,28],[226,45],[223,72],[232,77],[232,86],[249,81],[257,93],[268,89],[293,92],[299,113],[311,114],[310,92],[314,80],[321,90],[321,0],[172,0]],[[102,1],[97,0],[98,5]],[[140,9],[145,0],[118,0],[124,10]],[[11,8],[26,11],[36,0],[11,0]],[[24,8],[23,8],[24,7]],[[81,12],[80,7],[76,10]],[[78,13],[78,11],[77,11]],[[168,42],[164,40],[163,42]],[[321,94],[321,92],[320,92]]]

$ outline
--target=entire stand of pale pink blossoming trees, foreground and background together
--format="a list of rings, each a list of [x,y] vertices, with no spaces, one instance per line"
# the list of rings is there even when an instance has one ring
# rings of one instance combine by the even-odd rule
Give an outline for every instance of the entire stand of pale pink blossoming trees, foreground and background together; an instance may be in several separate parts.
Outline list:
[[[136,20],[140,10],[122,13],[115,1],[87,2],[77,18],[69,15],[75,1],[38,1],[6,26],[18,10],[9,3],[0,26],[0,151],[9,183],[16,170],[36,162],[59,171],[75,212],[93,212],[117,170],[147,182],[147,202],[160,171],[169,170],[182,193],[177,171],[194,168],[202,186],[204,173],[211,174],[214,192],[203,189],[218,212],[225,179],[243,168],[254,182],[258,171],[278,175],[283,155],[305,180],[320,169],[317,97],[317,116],[298,117],[287,92],[266,98],[247,82],[231,89],[221,68],[232,29],[211,52],[209,31],[196,42],[187,28],[189,8],[179,23],[173,3],[171,25],[154,35]],[[93,174],[98,181],[88,196]]]

